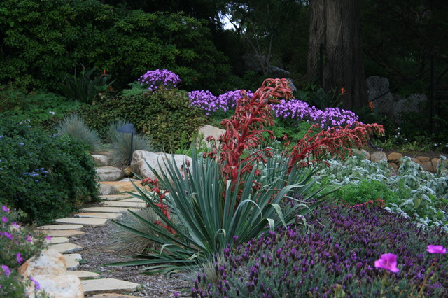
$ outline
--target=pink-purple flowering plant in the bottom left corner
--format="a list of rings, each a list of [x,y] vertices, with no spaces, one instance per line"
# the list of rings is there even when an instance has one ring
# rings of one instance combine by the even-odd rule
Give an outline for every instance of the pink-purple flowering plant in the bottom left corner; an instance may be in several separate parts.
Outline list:
[[[10,210],[1,201],[0,206],[0,296],[26,297],[27,286],[34,283],[38,289],[38,283],[31,279],[32,276],[24,280],[17,269],[47,247],[45,236],[29,227],[20,227],[20,214]],[[38,297],[43,297],[40,294]]]

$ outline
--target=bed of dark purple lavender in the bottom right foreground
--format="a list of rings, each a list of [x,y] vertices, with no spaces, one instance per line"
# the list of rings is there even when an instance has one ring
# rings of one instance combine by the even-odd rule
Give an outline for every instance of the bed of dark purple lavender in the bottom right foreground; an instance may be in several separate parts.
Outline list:
[[[447,233],[376,206],[330,204],[200,271],[193,297],[444,297]],[[297,217],[297,222],[302,219]],[[423,296],[422,296],[423,295]]]

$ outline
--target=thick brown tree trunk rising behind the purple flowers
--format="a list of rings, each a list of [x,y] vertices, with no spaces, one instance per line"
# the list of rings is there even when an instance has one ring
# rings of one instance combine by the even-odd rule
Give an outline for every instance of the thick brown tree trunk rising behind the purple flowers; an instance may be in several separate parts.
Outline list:
[[[344,88],[344,108],[367,104],[358,0],[311,0],[308,79]]]

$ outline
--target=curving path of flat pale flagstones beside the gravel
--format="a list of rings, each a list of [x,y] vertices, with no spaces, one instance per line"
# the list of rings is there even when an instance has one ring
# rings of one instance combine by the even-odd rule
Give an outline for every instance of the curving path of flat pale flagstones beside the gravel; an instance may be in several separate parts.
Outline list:
[[[121,293],[137,291],[138,283],[120,281],[116,278],[99,278],[99,274],[95,272],[77,270],[83,260],[83,247],[70,243],[71,236],[83,234],[85,226],[104,226],[109,219],[120,217],[128,209],[146,206],[144,201],[129,194],[102,195],[100,197],[105,200],[102,202],[102,206],[83,208],[80,213],[71,218],[59,218],[55,220],[55,225],[45,225],[37,229],[51,236],[51,240],[48,240],[49,248],[64,255],[67,273],[76,274],[80,278],[84,295],[104,298],[131,297]]]

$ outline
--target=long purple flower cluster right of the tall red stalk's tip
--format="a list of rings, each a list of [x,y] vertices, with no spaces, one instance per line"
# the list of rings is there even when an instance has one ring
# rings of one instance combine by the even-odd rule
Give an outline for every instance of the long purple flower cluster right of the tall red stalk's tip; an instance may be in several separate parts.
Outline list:
[[[278,118],[308,120],[318,123],[323,129],[346,126],[358,121],[358,116],[352,111],[342,108],[319,110],[315,106],[309,106],[309,104],[299,99],[281,100],[280,104],[273,104],[272,109]]]

